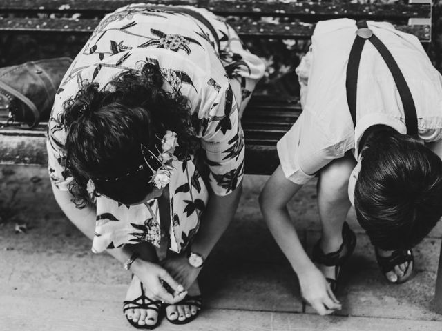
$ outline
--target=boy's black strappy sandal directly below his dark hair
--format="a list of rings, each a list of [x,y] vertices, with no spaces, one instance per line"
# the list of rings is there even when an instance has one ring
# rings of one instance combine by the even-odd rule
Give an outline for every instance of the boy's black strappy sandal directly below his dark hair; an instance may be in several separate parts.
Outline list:
[[[388,277],[387,277],[387,272],[394,271],[394,267],[396,265],[399,265],[399,264],[402,264],[405,262],[407,262],[408,265],[404,271],[404,275],[407,274],[407,272],[409,271],[411,263],[413,263],[411,268],[414,268],[414,256],[413,256],[412,250],[395,250],[394,252],[392,252],[390,257],[381,257],[381,255],[379,255],[379,253],[378,253],[377,248],[374,248],[374,252],[376,253],[376,260],[378,261],[378,265],[381,268],[385,279],[387,279],[387,281],[389,283],[401,284],[401,283],[405,283],[405,281],[410,279],[411,272],[413,271],[413,269],[410,270],[410,275],[408,275],[407,277],[401,278],[397,275],[397,277],[398,277],[397,281],[390,281],[390,279],[388,279]]]

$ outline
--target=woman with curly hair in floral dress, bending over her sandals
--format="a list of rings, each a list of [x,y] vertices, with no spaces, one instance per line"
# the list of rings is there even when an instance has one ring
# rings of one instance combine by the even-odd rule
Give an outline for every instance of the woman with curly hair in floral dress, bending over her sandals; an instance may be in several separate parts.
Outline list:
[[[137,4],[104,18],[61,83],[47,144],[55,198],[93,252],[133,273],[135,328],[163,311],[175,324],[198,315],[198,274],[240,197],[240,114],[264,69],[211,12]]]

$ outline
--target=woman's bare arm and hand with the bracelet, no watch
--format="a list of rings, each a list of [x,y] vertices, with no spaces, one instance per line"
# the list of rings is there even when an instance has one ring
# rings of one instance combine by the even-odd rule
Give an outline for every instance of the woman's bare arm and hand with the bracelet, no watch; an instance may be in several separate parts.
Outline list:
[[[76,208],[75,204],[71,201],[72,195],[70,192],[59,190],[54,183],[52,183],[52,191],[54,192],[55,200],[68,219],[70,219],[86,237],[93,239],[95,232],[95,209],[92,207],[85,207],[83,209]],[[107,250],[107,252],[123,264],[133,254],[133,247],[134,245],[124,245],[122,248],[113,248]],[[181,301],[187,292],[184,291],[182,285],[177,283],[164,268],[157,263],[153,263],[155,259],[154,252],[149,253],[148,250],[140,252],[140,258],[135,259],[131,265],[131,272],[137,275],[140,281],[142,281],[146,295],[149,298],[167,303],[177,303]],[[168,283],[175,293],[171,294],[167,292],[162,285],[162,281]]]

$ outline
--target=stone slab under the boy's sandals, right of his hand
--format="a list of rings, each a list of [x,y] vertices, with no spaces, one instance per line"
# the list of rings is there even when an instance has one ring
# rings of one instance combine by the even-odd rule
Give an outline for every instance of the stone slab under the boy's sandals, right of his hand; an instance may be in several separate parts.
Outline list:
[[[319,237],[318,232],[307,232],[309,252]],[[336,293],[343,303],[338,314],[442,321],[442,315],[432,312],[430,307],[440,245],[439,239],[425,239],[416,246],[414,277],[401,285],[392,285],[381,274],[368,237],[358,234],[355,252],[344,265],[342,285]],[[314,310],[307,306],[306,312]]]

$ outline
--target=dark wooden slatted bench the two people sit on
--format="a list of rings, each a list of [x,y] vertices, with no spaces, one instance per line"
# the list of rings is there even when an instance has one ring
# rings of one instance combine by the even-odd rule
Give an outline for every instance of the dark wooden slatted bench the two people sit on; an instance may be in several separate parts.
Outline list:
[[[400,1],[394,4],[359,4],[336,0],[149,2],[208,8],[215,14],[227,17],[231,26],[244,39],[307,40],[316,21],[336,17],[391,21],[398,30],[419,37],[425,47],[432,39],[432,6],[431,1],[427,0]],[[104,14],[129,3],[134,1],[1,0],[0,36],[21,33],[87,35],[93,31]],[[262,19],[265,17],[276,19]],[[295,80],[295,77],[293,79]],[[276,141],[289,130],[300,111],[296,96],[284,99],[275,95],[253,96],[242,121],[246,134],[247,174],[271,174],[275,170],[279,163]],[[0,125],[5,124],[6,114],[0,113]],[[0,128],[0,163],[46,164],[45,133],[46,123],[40,123],[35,130],[23,130],[18,124]],[[442,313],[442,259],[439,262],[434,308]]]

